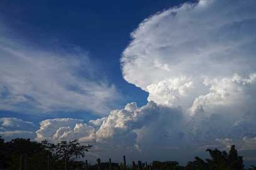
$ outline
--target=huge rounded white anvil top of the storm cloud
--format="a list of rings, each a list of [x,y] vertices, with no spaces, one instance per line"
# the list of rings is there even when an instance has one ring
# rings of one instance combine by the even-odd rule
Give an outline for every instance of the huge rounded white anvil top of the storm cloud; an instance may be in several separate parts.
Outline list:
[[[124,79],[149,92],[149,101],[189,108],[213,88],[205,81],[255,73],[255,21],[253,0],[201,0],[159,12],[132,32]]]

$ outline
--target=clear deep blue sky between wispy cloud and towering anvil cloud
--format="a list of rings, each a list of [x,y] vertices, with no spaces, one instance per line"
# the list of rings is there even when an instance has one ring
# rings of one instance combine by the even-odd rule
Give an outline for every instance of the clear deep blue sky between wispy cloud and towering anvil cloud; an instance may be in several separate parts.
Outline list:
[[[147,93],[124,81],[120,71],[120,54],[131,41],[130,33],[141,21],[157,11],[183,2],[4,0],[0,2],[0,16],[4,24],[13,30],[14,36],[26,39],[35,46],[46,49],[79,46],[88,51],[90,58],[99,64],[102,74],[124,94],[122,105],[136,101],[142,106],[146,104]],[[8,114],[2,111],[1,117]],[[85,119],[81,116],[84,114],[75,115],[65,113],[56,114],[56,117]],[[19,114],[16,116],[22,117]],[[36,120],[45,119],[45,115],[43,117]]]

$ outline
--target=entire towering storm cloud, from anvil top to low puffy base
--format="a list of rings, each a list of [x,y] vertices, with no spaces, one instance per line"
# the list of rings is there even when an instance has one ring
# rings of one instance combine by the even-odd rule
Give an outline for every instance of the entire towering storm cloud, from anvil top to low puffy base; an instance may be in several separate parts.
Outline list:
[[[255,149],[255,7],[253,0],[200,0],[145,19],[121,62],[124,79],[147,91],[149,102],[88,123],[42,121],[36,139],[77,138],[102,156],[147,160],[188,161],[231,144]]]

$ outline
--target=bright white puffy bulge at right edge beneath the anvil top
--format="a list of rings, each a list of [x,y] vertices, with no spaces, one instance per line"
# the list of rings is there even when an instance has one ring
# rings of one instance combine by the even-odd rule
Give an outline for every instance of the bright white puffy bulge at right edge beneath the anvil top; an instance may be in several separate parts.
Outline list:
[[[256,74],[248,78],[235,74],[232,78],[205,80],[205,84],[210,87],[210,93],[195,99],[190,108],[191,114],[196,111],[218,114],[218,110],[225,109],[229,110],[227,114],[235,116],[256,109]]]

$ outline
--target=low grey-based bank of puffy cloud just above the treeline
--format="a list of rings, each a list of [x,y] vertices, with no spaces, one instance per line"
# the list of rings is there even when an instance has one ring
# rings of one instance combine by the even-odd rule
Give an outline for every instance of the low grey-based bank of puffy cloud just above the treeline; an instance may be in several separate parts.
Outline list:
[[[180,107],[151,101],[138,108],[136,103],[129,103],[124,109],[87,123],[70,118],[41,121],[36,140],[58,143],[78,139],[82,144],[93,144],[92,155],[102,160],[110,155],[120,159],[125,154],[134,160],[173,159],[185,163],[205,153],[206,148],[228,149],[232,144],[247,158],[247,151],[256,149],[255,115],[220,111],[223,113],[197,112],[188,117]],[[94,160],[93,156],[90,159]]]

